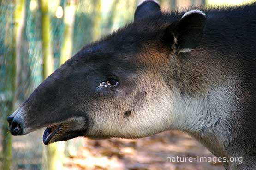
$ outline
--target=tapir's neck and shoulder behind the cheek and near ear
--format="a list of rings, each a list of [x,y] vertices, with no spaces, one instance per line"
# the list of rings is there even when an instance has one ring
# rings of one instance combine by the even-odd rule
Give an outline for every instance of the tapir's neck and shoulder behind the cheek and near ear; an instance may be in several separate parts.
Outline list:
[[[244,27],[247,17],[250,12],[209,14],[200,46],[170,62],[173,127],[218,157],[243,157],[242,164],[224,163],[228,170],[256,169],[256,39],[244,39],[256,31]]]

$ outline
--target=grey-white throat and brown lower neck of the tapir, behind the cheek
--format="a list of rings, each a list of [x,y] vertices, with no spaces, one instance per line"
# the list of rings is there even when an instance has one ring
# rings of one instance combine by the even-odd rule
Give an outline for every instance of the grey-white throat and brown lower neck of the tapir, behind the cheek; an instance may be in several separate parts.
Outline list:
[[[177,114],[172,128],[189,133],[217,157],[236,159],[223,162],[227,170],[244,170],[248,164],[256,167],[255,135],[244,133],[244,110],[237,91],[230,86],[209,88],[205,95],[177,93],[172,103],[172,112]]]

